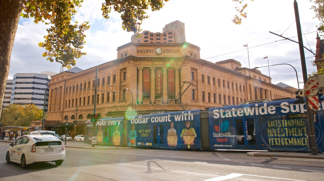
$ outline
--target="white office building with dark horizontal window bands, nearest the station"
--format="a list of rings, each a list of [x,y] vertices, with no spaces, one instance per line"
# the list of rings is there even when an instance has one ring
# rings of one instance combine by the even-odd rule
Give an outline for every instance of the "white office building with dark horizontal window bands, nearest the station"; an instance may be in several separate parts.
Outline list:
[[[34,104],[40,109],[44,109],[44,99],[46,99],[45,111],[47,111],[50,79],[55,72],[44,71],[37,73],[17,73],[13,76],[11,89],[11,104]],[[46,95],[45,95],[46,90]]]

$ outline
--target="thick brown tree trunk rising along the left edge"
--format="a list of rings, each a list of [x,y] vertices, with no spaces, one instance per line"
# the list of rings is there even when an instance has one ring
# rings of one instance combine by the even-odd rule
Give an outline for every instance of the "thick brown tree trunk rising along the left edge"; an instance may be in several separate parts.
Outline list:
[[[23,0],[0,0],[0,115]]]

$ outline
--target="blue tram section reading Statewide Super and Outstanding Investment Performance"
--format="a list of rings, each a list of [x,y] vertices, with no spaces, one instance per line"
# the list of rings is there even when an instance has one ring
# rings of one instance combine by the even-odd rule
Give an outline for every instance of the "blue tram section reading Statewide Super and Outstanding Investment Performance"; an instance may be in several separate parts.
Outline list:
[[[323,112],[316,140],[323,146]],[[305,104],[293,99],[209,109],[210,149],[308,151]]]

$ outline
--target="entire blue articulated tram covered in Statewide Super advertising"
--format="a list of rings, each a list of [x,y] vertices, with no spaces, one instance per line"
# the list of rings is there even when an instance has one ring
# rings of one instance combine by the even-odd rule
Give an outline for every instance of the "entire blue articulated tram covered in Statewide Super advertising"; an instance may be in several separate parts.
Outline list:
[[[320,106],[323,107],[323,103]],[[324,150],[323,110],[318,110],[316,142]],[[91,144],[92,122],[85,142]],[[308,151],[305,104],[294,99],[231,105],[95,122],[98,145],[203,150]]]

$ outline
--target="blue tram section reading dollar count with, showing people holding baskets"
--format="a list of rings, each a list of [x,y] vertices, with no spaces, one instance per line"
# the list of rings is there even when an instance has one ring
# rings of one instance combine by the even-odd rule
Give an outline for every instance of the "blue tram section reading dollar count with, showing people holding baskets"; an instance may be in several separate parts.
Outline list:
[[[201,148],[200,110],[133,116],[127,143],[134,147]]]

